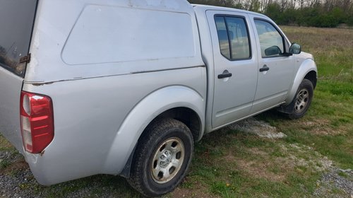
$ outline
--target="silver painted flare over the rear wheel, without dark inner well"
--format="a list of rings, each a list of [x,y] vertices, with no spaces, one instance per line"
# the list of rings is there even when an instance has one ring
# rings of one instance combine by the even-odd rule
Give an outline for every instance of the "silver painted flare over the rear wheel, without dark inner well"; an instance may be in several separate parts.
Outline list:
[[[104,173],[121,173],[145,127],[162,112],[174,107],[195,111],[201,120],[201,132],[204,131],[205,98],[200,93],[186,86],[160,88],[143,98],[121,124],[107,153]]]

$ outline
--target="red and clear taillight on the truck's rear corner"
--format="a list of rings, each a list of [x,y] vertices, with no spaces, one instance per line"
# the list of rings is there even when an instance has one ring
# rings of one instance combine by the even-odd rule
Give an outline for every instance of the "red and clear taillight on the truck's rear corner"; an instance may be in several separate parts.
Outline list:
[[[21,92],[20,122],[25,151],[40,153],[54,138],[52,100],[46,95]]]

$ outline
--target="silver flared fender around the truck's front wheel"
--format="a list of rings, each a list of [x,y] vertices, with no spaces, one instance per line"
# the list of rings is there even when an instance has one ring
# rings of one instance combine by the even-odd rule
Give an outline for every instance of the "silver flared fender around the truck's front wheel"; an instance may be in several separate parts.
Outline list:
[[[313,61],[313,59],[305,59],[299,66],[297,74],[295,75],[293,86],[289,91],[287,100],[285,100],[285,105],[289,105],[289,103],[292,103],[292,100],[295,94],[297,93],[301,81],[303,81],[306,74],[309,74],[310,71],[315,71],[316,74],[318,73],[316,63]]]

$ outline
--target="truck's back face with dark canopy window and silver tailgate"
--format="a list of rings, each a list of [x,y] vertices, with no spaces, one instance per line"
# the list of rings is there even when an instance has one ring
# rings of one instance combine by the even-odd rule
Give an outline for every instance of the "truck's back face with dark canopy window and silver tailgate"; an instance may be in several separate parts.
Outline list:
[[[0,1],[0,132],[22,151],[20,91],[37,0]]]

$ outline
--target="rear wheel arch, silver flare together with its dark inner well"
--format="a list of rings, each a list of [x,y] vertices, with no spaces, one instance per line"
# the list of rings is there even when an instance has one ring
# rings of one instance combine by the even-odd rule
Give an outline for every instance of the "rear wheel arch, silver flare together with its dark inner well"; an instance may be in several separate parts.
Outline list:
[[[138,139],[154,120],[162,117],[179,120],[191,129],[197,141],[203,136],[204,116],[205,98],[192,88],[168,86],[150,93],[131,110],[121,124],[107,153],[103,173],[129,176]]]

